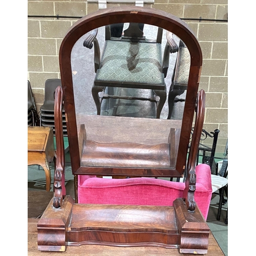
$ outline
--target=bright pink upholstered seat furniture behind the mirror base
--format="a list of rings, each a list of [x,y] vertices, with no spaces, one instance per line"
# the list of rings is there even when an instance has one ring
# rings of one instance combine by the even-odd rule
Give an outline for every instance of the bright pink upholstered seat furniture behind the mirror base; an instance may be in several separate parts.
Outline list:
[[[207,218],[211,199],[210,168],[206,164],[196,167],[195,201]],[[78,175],[78,203],[173,205],[182,198],[185,183],[154,178],[102,179]]]

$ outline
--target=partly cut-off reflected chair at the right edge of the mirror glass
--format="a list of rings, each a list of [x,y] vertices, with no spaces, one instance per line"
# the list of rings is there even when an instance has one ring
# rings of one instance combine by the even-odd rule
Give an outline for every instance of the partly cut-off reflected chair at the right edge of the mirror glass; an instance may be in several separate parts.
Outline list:
[[[172,76],[172,84],[170,85],[168,94],[168,117],[172,118],[174,104],[176,102],[184,102],[184,97],[178,97],[187,90],[188,74],[190,67],[190,54],[184,42],[180,40],[179,50]]]

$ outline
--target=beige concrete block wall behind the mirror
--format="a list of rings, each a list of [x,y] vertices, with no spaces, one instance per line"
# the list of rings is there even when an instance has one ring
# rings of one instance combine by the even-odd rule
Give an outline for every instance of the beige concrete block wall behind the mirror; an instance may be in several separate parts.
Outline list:
[[[120,0],[122,1],[122,0]],[[107,4],[107,8],[122,4]],[[123,4],[127,5],[127,4]],[[134,5],[134,4],[130,4]],[[206,92],[204,129],[219,129],[217,152],[223,152],[228,137],[228,1],[227,0],[155,0],[144,4],[172,13],[194,30],[203,52],[200,88]],[[37,110],[44,102],[45,81],[60,78],[58,51],[68,28],[77,17],[98,10],[98,4],[82,0],[28,0],[28,15],[72,16],[72,18],[28,17],[28,80],[31,82]],[[215,19],[188,20],[189,18]]]

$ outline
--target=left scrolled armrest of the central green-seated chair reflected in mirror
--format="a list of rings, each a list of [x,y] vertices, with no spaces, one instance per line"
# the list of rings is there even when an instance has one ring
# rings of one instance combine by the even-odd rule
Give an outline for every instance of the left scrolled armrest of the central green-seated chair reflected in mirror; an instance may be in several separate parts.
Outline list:
[[[94,70],[95,73],[99,69],[100,65],[100,49],[99,49],[99,42],[96,38],[98,34],[98,29],[92,30],[86,39],[83,41],[83,46],[89,49],[92,49],[94,46]]]

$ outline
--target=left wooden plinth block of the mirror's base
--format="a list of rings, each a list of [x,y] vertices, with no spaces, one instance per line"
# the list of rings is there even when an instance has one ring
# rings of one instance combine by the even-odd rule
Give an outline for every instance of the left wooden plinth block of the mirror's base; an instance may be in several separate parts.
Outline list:
[[[53,207],[53,199],[37,224],[37,245],[40,251],[65,251],[67,229],[72,216],[74,199],[66,196],[60,208]]]

